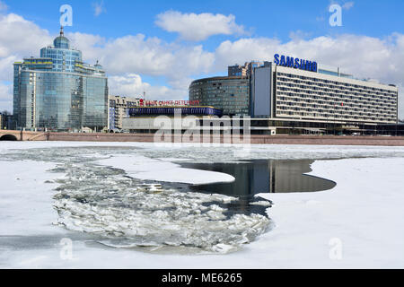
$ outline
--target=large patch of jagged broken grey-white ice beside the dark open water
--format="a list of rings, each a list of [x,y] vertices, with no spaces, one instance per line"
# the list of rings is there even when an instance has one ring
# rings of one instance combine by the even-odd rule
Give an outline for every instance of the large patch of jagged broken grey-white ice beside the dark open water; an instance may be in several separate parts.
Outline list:
[[[268,230],[270,221],[264,215],[226,213],[225,204],[237,201],[237,197],[164,188],[127,177],[124,170],[97,164],[110,152],[89,147],[42,149],[9,153],[7,158],[57,162],[52,171],[65,177],[54,180],[59,185],[54,196],[55,223],[91,233],[94,240],[111,247],[179,247],[227,253]],[[129,149],[114,152],[136,154]]]

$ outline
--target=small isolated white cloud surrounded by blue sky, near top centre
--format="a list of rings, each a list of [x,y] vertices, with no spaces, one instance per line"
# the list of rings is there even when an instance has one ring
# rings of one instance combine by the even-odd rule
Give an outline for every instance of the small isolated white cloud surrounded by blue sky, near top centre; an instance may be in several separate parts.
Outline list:
[[[182,39],[200,41],[213,35],[242,35],[244,27],[235,22],[234,15],[213,13],[180,13],[167,11],[157,15],[156,25],[169,32],[178,32]]]

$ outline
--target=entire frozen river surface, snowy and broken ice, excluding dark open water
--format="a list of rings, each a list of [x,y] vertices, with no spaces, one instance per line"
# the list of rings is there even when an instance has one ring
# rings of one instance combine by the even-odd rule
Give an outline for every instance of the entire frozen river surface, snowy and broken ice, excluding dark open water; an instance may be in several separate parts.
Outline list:
[[[402,147],[252,145],[246,153],[240,146],[22,142],[2,143],[0,153],[1,267],[404,266]],[[236,198],[153,182],[169,180],[170,172],[185,183],[231,181],[220,173],[195,177],[177,162],[246,157],[321,160],[310,174],[337,186],[261,194],[273,202],[267,218],[228,216],[222,204]],[[73,240],[71,260],[60,257],[63,238]],[[342,243],[340,260],[329,256],[332,239]],[[169,252],[158,252],[164,248]]]

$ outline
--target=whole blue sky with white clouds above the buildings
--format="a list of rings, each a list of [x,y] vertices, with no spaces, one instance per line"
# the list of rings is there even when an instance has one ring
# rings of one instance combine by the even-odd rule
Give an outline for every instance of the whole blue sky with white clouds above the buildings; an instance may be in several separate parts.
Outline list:
[[[404,118],[402,0],[0,0],[0,110],[13,109],[13,62],[52,43],[63,4],[73,9],[66,37],[101,62],[110,94],[188,100],[193,80],[278,53],[398,85]],[[332,4],[341,26],[329,23]]]

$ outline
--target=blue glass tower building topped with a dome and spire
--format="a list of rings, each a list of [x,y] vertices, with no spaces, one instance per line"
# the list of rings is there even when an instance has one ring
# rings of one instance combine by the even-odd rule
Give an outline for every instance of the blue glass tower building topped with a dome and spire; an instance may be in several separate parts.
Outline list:
[[[18,128],[100,131],[108,126],[108,79],[102,66],[86,65],[70,48],[63,28],[40,57],[14,63],[13,114]]]

